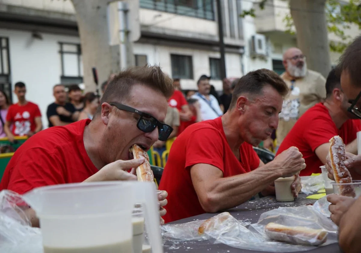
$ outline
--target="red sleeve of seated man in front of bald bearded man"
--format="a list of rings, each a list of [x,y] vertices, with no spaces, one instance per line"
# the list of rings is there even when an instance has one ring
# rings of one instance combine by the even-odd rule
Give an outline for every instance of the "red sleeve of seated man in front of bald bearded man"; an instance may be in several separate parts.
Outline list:
[[[322,117],[312,120],[312,127],[304,130],[303,138],[311,147],[312,152],[320,145],[328,143],[332,137],[338,135],[333,122]]]

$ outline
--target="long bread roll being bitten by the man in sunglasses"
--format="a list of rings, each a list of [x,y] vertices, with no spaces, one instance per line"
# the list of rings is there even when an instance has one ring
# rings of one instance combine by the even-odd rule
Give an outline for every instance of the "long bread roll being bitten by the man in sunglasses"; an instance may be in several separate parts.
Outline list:
[[[147,152],[136,144],[131,147],[130,151],[133,153],[134,159],[145,158],[145,162],[135,169],[138,181],[154,182],[154,175]]]

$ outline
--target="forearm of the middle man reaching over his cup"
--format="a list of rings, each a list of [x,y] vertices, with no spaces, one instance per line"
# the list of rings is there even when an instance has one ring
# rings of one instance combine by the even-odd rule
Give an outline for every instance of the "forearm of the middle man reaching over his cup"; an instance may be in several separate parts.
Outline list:
[[[217,212],[238,206],[266,189],[270,193],[269,185],[280,176],[277,168],[268,163],[242,175],[220,178],[214,183],[213,189],[209,189],[209,196],[212,196],[209,203],[211,210],[205,211]]]

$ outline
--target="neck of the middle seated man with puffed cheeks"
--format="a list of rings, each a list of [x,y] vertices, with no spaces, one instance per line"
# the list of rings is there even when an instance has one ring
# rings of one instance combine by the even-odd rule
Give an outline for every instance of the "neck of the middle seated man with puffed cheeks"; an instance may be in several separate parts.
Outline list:
[[[239,136],[239,127],[236,120],[232,120],[232,110],[222,116],[222,126],[227,142],[233,152],[238,152],[244,142]]]

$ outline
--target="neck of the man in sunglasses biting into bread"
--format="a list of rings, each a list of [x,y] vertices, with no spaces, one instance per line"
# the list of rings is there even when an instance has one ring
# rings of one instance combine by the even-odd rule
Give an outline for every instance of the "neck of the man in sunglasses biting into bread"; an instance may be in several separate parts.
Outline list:
[[[102,138],[101,134],[99,134],[100,132],[101,129],[97,120],[93,120],[85,127],[83,135],[85,150],[87,151],[90,160],[98,170],[106,165],[106,163],[104,163],[101,159],[99,152],[101,143],[100,140]]]

